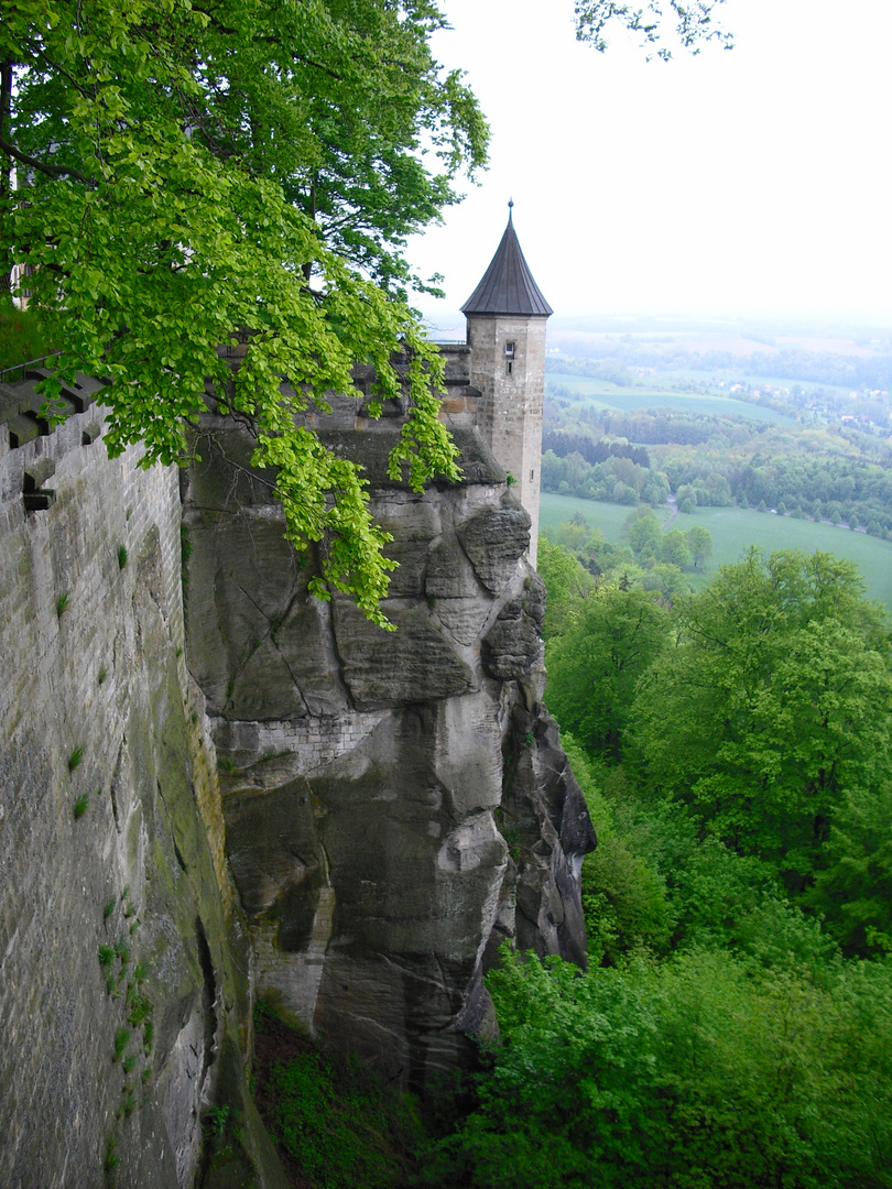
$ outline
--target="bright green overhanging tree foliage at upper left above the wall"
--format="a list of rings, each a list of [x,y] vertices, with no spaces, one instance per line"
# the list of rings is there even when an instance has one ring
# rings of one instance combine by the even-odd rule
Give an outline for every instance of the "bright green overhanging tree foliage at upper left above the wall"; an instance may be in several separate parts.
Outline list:
[[[378,621],[385,536],[362,473],[295,417],[371,363],[378,398],[409,396],[392,472],[416,489],[456,474],[441,363],[375,283],[409,279],[406,235],[484,159],[472,95],[429,52],[441,25],[427,0],[12,0],[0,25],[19,183],[0,241],[64,345],[48,397],[75,369],[107,377],[108,448],[140,442],[149,466],[184,458],[207,385],[276,470],[289,539],[319,542],[315,593],[351,590]],[[234,378],[218,352],[233,334]]]

